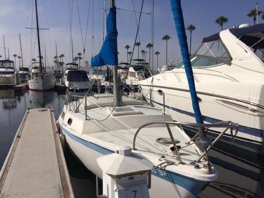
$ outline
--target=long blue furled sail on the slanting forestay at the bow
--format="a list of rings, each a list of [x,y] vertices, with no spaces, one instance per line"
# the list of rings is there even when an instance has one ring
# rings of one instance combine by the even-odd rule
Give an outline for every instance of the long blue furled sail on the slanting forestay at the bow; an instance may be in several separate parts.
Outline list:
[[[171,0],[171,9],[173,12],[174,22],[177,30],[179,44],[181,46],[181,53],[183,56],[184,69],[189,84],[189,91],[191,96],[192,108],[194,111],[195,119],[197,123],[203,123],[202,114],[200,111],[198,98],[195,90],[195,84],[193,79],[193,72],[190,63],[190,56],[188,50],[187,37],[184,26],[184,17],[181,6],[181,0]]]

